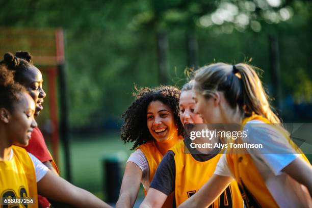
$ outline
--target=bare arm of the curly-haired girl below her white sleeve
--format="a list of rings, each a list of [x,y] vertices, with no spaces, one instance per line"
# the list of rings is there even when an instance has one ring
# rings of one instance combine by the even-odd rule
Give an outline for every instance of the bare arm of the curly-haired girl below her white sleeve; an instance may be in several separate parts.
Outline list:
[[[116,207],[133,207],[138,197],[142,175],[143,172],[137,164],[126,164]]]

